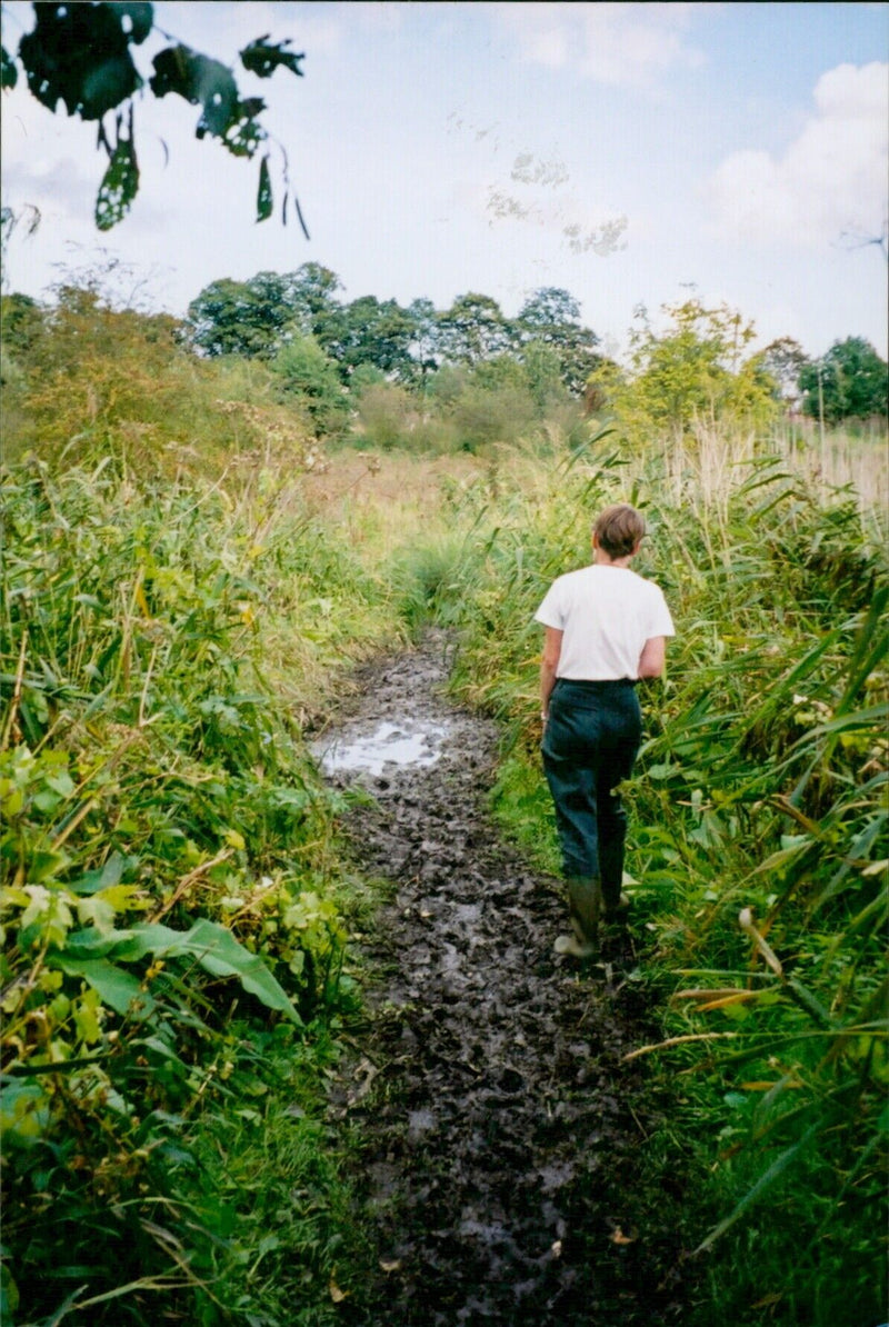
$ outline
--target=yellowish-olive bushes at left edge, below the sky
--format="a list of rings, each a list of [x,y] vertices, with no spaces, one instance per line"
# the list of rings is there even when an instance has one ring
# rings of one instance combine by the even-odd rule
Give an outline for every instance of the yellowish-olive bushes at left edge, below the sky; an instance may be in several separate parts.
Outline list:
[[[0,398],[9,459],[34,450],[53,464],[170,476],[218,475],[259,456],[285,455],[297,468],[317,460],[268,370],[196,360],[167,314],[113,309],[96,284],[64,287],[44,309],[4,296],[3,317],[15,344]]]

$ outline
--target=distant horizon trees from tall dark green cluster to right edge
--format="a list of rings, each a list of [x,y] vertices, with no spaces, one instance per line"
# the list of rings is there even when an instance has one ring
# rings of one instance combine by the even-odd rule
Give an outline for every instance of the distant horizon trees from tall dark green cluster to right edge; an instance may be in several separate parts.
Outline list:
[[[533,291],[515,318],[476,292],[439,311],[427,299],[402,307],[365,295],[345,303],[341,291],[336,273],[317,263],[214,281],[188,307],[191,344],[208,356],[284,354],[291,362],[317,360],[320,350],[350,389],[374,381],[417,389],[447,365],[506,360],[524,369],[537,395],[560,386],[596,410],[641,394],[655,417],[670,422],[694,409],[767,401],[829,423],[886,415],[886,364],[864,337],[837,340],[820,358],[809,358],[791,337],[752,352],[751,322],[698,299],[666,308],[666,332],[655,330],[640,307],[630,361],[621,368],[600,352],[579,301],[559,287]],[[301,352],[287,350],[300,342]]]

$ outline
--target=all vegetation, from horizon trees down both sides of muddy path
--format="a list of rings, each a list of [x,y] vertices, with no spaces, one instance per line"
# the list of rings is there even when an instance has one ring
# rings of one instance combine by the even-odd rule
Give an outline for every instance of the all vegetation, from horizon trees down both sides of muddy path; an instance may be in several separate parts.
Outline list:
[[[787,419],[731,311],[641,318],[618,368],[567,292],[510,321],[277,280],[218,283],[188,328],[89,284],[3,299],[4,1320],[360,1295],[325,1082],[374,889],[307,727],[352,662],[447,625],[456,694],[503,722],[495,812],[555,868],[531,618],[626,498],[679,630],[628,790],[662,1024],[636,1054],[674,1099],[646,1148],[698,1158],[701,1327],[876,1327],[885,453],[844,438],[833,487],[833,415]]]

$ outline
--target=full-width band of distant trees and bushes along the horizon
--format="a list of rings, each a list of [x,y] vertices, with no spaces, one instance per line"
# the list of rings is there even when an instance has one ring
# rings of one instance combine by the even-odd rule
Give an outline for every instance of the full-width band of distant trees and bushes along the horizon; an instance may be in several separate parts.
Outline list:
[[[657,320],[640,307],[618,364],[559,287],[535,289],[515,317],[479,292],[444,309],[429,299],[402,305],[342,295],[340,277],[318,263],[212,281],[184,320],[115,314],[90,283],[60,288],[52,307],[7,295],[4,382],[17,374],[21,386],[45,384],[42,368],[58,358],[50,342],[86,318],[80,330],[89,325],[100,341],[131,337],[139,324],[149,358],[161,337],[208,368],[261,365],[316,438],[357,426],[381,447],[476,450],[553,429],[573,446],[590,417],[614,418],[630,438],[735,422],[759,430],[786,413],[827,423],[886,418],[886,364],[862,337],[816,360],[789,337],[755,350],[752,322],[697,297],[665,307]]]

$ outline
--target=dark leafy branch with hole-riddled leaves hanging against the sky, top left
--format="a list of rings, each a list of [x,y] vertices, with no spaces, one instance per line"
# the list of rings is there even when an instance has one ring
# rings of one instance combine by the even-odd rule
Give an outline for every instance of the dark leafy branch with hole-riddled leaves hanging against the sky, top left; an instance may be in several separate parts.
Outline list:
[[[196,138],[216,138],[232,155],[252,158],[268,131],[260,121],[265,110],[261,97],[241,97],[231,69],[219,60],[183,45],[154,23],[154,5],[145,3],[34,4],[34,28],[19,42],[17,56],[5,46],[0,57],[0,86],[15,88],[19,65],[29,92],[56,113],[61,102],[68,115],[98,121],[98,143],[109,165],[96,198],[96,224],[106,231],[122,220],[139,188],[135,154],[134,102],[142,88],[158,100],[176,93],[191,106],[200,107]],[[133,60],[133,48],[151,32],[170,41],[153,60],[154,73],[146,80]],[[289,40],[271,42],[257,37],[239,52],[241,66],[259,78],[271,78],[276,69],[303,76],[305,58],[289,50]],[[113,123],[109,119],[113,117]],[[281,220],[287,224],[289,179],[283,153]],[[273,211],[269,154],[260,161],[256,219],[267,220]],[[308,239],[305,223],[295,199],[297,218]]]

